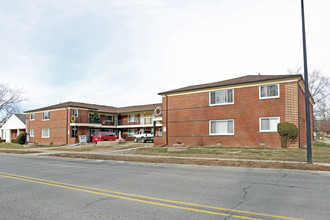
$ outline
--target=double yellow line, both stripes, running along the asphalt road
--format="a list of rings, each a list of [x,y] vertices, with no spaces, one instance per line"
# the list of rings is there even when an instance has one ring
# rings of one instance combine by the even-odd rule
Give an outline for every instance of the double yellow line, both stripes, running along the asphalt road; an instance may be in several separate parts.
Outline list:
[[[227,208],[221,208],[221,207],[215,207],[215,206],[199,205],[199,204],[194,204],[194,203],[173,201],[173,200],[168,200],[168,199],[160,199],[160,198],[141,196],[141,195],[135,195],[135,194],[123,193],[123,192],[116,192],[116,191],[112,191],[112,190],[98,189],[98,188],[93,188],[93,187],[88,187],[88,186],[80,186],[80,185],[75,185],[75,184],[69,184],[69,183],[15,175],[15,174],[10,174],[10,173],[0,172],[0,176],[6,177],[6,178],[11,178],[11,179],[16,179],[16,180],[22,180],[22,181],[27,181],[27,182],[33,182],[33,183],[39,183],[39,184],[64,188],[64,189],[76,190],[76,191],[93,193],[93,194],[102,195],[102,196],[108,196],[108,197],[125,199],[125,200],[130,200],[130,201],[135,201],[135,202],[141,202],[141,203],[146,203],[146,204],[152,204],[152,205],[158,205],[158,206],[163,206],[163,207],[170,207],[170,208],[176,208],[176,209],[182,209],[182,210],[188,210],[188,211],[194,211],[194,212],[200,212],[200,213],[206,213],[206,214],[221,215],[221,216],[227,216],[227,217],[230,216],[230,217],[239,218],[239,219],[252,220],[252,219],[263,219],[265,217],[271,217],[271,218],[278,218],[278,219],[302,220],[299,218],[290,218],[290,217],[284,217],[284,216],[278,216],[278,215],[269,215],[269,214],[263,214],[263,213],[257,213],[257,212],[241,211],[241,210],[236,210],[236,209],[227,209]],[[164,202],[164,203],[161,203],[161,202]],[[190,207],[187,207],[187,206],[190,206]],[[225,211],[225,212],[210,211],[207,209],[221,210],[221,211]],[[261,218],[229,214],[228,212],[242,213],[242,214],[246,214],[246,215],[250,215],[250,216],[260,216]]]

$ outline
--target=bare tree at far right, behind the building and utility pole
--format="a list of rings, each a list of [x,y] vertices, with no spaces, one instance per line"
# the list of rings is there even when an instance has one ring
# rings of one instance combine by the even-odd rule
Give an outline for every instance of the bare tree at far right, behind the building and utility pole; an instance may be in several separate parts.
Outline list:
[[[290,74],[302,74],[302,68],[288,69]],[[328,120],[330,115],[330,79],[319,70],[308,74],[308,86],[315,101],[314,116],[320,120]]]

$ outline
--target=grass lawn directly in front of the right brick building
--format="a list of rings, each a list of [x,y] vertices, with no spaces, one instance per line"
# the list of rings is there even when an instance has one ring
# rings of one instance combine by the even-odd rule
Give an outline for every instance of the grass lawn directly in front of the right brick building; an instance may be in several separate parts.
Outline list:
[[[187,151],[167,152],[167,147],[138,149],[136,154],[178,155],[188,157],[218,157],[238,159],[306,161],[306,149],[282,149],[262,147],[191,147]],[[330,163],[330,144],[313,143],[313,162]]]

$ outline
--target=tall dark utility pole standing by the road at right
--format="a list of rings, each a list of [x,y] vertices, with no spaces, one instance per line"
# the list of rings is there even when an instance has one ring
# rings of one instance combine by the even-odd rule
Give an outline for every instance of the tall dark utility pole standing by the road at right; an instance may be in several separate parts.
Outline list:
[[[309,87],[308,87],[308,70],[307,70],[304,0],[301,0],[301,19],[302,19],[302,35],[303,35],[303,50],[304,50],[307,163],[311,164],[313,162],[312,162],[311,122],[310,122],[310,110],[309,110]]]

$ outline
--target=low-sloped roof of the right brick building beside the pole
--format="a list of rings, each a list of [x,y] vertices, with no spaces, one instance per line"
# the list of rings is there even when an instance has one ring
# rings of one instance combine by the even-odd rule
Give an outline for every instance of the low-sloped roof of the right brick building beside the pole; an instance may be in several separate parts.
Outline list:
[[[221,87],[221,86],[230,86],[230,85],[238,85],[238,84],[244,84],[244,83],[253,83],[253,82],[263,82],[263,81],[269,81],[269,80],[279,80],[279,79],[286,79],[286,78],[296,78],[302,76],[300,74],[295,75],[247,75],[242,76],[238,78],[213,82],[213,83],[206,83],[206,84],[199,84],[199,85],[192,85],[192,86],[186,86],[179,89],[173,89],[165,92],[160,92],[158,95],[162,94],[168,94],[168,93],[176,93],[176,92],[185,92],[185,91],[192,91],[192,90],[198,90],[198,89],[208,89],[208,88],[214,88],[214,87]]]

